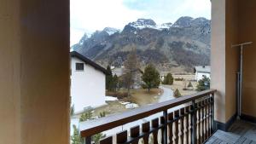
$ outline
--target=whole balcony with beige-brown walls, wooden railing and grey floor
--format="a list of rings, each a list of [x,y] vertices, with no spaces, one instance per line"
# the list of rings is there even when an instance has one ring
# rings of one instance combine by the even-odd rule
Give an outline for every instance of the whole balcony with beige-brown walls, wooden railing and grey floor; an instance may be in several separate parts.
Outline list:
[[[0,4],[1,144],[70,142],[69,3],[69,0],[61,3],[3,0]],[[236,121],[230,132],[212,132],[219,123],[230,125],[233,122],[230,119],[236,118],[240,51],[231,48],[234,43],[253,42],[244,49],[241,116],[256,121],[255,6],[253,0],[212,0],[211,88],[218,92],[209,90],[183,96],[88,122],[89,127],[81,131],[86,142],[91,142],[91,135],[161,112],[160,117],[117,135],[108,135],[101,143],[137,143],[139,139],[147,143],[148,135],[154,135],[153,141],[159,139],[154,143],[197,143],[207,141],[208,137],[211,138],[207,143],[253,143],[255,126],[247,122]],[[176,108],[174,112],[172,108]],[[215,126],[213,114],[218,122]],[[157,135],[158,131],[164,135]]]

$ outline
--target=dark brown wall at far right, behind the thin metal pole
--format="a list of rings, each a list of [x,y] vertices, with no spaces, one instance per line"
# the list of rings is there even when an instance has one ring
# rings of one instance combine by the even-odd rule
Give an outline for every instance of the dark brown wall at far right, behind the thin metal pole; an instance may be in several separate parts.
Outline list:
[[[256,1],[239,2],[239,42],[252,41],[244,49],[242,113],[256,117]]]

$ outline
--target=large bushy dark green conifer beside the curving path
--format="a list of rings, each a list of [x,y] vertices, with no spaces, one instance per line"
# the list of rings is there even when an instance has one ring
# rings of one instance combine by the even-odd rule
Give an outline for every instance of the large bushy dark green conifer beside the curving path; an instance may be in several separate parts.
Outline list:
[[[160,73],[155,69],[152,64],[145,67],[143,72],[143,88],[148,89],[148,92],[152,88],[158,88],[160,85]]]

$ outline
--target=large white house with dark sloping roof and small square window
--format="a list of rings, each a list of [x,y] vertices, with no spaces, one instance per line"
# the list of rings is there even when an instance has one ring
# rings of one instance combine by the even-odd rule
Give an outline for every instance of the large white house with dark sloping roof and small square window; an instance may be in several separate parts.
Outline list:
[[[104,105],[107,70],[78,52],[73,51],[70,55],[71,97],[75,112]]]

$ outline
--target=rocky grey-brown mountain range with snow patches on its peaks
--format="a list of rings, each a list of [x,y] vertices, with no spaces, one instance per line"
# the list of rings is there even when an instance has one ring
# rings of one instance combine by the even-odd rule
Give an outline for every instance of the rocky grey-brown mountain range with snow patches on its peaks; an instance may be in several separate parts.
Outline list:
[[[107,27],[86,34],[73,49],[107,66],[122,66],[131,49],[137,49],[141,66],[154,63],[160,71],[191,72],[193,66],[210,63],[210,20],[181,17],[174,24],[157,25],[138,19],[122,31]]]

